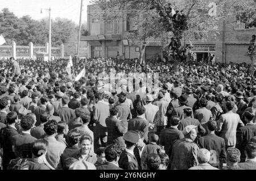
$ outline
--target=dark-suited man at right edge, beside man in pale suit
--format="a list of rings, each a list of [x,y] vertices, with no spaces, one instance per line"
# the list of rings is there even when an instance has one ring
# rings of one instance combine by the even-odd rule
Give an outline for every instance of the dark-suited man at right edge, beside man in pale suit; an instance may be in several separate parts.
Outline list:
[[[250,142],[251,138],[256,136],[256,125],[253,123],[254,115],[251,112],[245,112],[244,114],[246,125],[241,127],[237,131],[237,145],[241,152],[241,162],[245,162],[245,147],[248,142]]]

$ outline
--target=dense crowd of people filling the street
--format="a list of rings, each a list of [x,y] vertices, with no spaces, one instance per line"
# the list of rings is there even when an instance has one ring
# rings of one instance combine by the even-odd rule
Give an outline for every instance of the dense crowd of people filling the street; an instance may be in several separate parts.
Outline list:
[[[0,61],[1,169],[256,169],[250,65],[89,58],[68,74],[67,64]],[[140,73],[131,84],[129,73]]]

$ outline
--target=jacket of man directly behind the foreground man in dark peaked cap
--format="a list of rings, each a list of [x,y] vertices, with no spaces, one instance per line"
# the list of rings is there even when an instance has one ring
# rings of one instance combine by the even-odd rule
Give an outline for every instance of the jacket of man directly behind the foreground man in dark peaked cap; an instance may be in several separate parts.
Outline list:
[[[128,131],[142,131],[144,133],[144,140],[148,141],[148,121],[142,117],[135,117],[130,119],[128,123]]]

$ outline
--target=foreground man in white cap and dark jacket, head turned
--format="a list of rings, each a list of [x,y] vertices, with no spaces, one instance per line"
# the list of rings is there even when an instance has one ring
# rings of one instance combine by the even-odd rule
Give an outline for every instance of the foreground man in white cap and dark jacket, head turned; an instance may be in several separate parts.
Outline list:
[[[174,144],[170,147],[171,170],[188,170],[199,165],[197,161],[199,147],[193,142],[197,137],[195,128],[195,125],[185,127],[183,129],[185,138],[174,141]]]

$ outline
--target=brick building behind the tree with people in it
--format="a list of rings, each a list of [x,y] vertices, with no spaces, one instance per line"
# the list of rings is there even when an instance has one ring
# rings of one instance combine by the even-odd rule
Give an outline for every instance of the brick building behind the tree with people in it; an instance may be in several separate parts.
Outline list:
[[[231,3],[232,1],[228,1],[227,6]],[[247,48],[251,35],[256,34],[256,28],[248,28],[240,22],[240,16],[237,16],[239,12],[235,7],[236,4],[232,4],[227,18],[220,20],[220,35],[217,38],[210,36],[207,41],[192,41],[197,60],[207,59],[210,54],[215,54],[216,61],[250,63]],[[81,41],[88,42],[88,57],[117,57],[119,54],[123,58],[138,58],[139,46],[130,46],[126,42],[127,32],[136,30],[136,26],[133,26],[132,22],[127,22],[126,18],[101,22],[98,14],[100,11],[96,5],[88,6],[89,36],[81,37]],[[162,43],[148,43],[144,58],[156,57],[157,54],[162,54]]]

